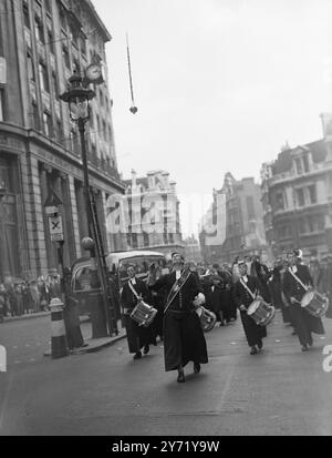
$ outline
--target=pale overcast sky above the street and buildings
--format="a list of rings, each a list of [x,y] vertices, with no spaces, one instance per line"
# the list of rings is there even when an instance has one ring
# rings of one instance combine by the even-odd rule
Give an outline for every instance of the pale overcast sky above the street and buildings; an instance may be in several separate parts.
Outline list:
[[[113,37],[106,53],[124,179],[163,169],[180,195],[211,195],[226,172],[259,180],[286,141],[322,138],[320,113],[332,111],[331,0],[93,3]],[[197,231],[198,213],[184,216],[185,234]]]

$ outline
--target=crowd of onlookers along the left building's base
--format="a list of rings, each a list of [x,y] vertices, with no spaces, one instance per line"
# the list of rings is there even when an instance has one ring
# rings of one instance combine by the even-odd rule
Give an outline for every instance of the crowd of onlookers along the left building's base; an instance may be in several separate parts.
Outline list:
[[[30,282],[8,278],[0,283],[0,320],[49,311],[51,292],[59,282],[59,275],[53,275]]]

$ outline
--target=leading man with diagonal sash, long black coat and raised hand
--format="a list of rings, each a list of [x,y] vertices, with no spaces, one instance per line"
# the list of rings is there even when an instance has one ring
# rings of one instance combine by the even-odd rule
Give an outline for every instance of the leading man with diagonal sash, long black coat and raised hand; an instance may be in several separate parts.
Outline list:
[[[173,253],[173,272],[156,279],[156,267],[151,266],[148,287],[152,291],[166,288],[167,303],[164,311],[165,370],[177,370],[177,381],[186,381],[184,367],[194,363],[194,372],[208,363],[206,340],[200,319],[193,301],[201,292],[197,277],[184,268],[185,259]]]

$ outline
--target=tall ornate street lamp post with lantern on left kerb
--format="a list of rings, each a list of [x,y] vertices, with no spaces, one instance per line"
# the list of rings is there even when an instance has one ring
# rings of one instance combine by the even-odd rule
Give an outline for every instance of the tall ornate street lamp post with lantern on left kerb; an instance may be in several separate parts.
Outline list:
[[[83,174],[84,174],[84,196],[85,196],[85,206],[86,206],[89,237],[94,242],[90,244],[90,248],[89,248],[91,253],[91,264],[92,264],[91,288],[95,289],[97,286],[102,286],[102,292],[103,292],[104,320],[102,320],[101,317],[96,318],[98,323],[96,326],[93,326],[93,329],[96,329],[94,337],[103,337],[107,335],[106,323],[108,323],[108,326],[110,326],[108,309],[107,309],[107,303],[108,303],[107,282],[105,279],[105,273],[102,272],[103,264],[101,262],[101,254],[98,253],[98,248],[96,246],[100,228],[96,227],[97,221],[96,218],[94,218],[93,210],[92,210],[92,202],[91,202],[91,194],[90,194],[90,181],[89,181],[89,167],[87,167],[87,154],[86,154],[86,145],[85,145],[85,124],[90,119],[90,101],[94,98],[95,98],[95,92],[86,88],[86,79],[82,78],[81,75],[76,73],[74,73],[69,79],[68,90],[63,94],[60,95],[60,99],[69,104],[71,120],[77,124],[79,131],[80,131]],[[97,255],[97,266],[98,266],[101,278],[98,278],[97,271],[94,267],[96,255]],[[95,294],[94,294],[94,298],[91,296],[91,306],[92,308],[97,307]],[[112,330],[113,329],[111,328],[110,334],[112,334]]]

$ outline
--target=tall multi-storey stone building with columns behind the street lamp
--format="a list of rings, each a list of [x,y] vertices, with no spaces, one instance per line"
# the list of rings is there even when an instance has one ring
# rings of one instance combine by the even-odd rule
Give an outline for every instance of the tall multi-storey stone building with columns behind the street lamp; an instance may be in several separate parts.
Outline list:
[[[0,14],[0,184],[2,203],[0,278],[34,278],[58,266],[44,203],[50,192],[62,201],[64,265],[82,255],[87,235],[81,145],[66,103],[73,71],[83,74],[105,59],[108,31],[89,0],[2,0]],[[86,146],[91,185],[105,250],[122,243],[106,231],[106,200],[123,193],[117,172],[112,99],[105,82],[92,89]]]

